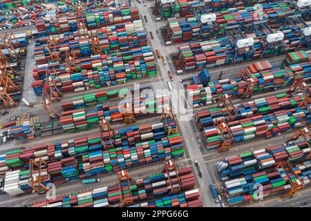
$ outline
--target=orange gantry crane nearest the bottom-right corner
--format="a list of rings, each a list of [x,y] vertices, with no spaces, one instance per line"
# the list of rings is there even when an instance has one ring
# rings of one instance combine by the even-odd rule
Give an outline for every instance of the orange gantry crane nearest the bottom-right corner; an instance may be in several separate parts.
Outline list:
[[[285,166],[288,168],[290,172],[286,170]],[[280,167],[283,169],[285,175],[288,177],[288,181],[290,182],[290,190],[281,196],[281,198],[287,198],[297,193],[297,191],[299,191],[299,189],[302,189],[304,185],[303,182],[301,182],[301,180],[299,179],[298,175],[296,175],[294,168],[289,161],[278,162],[274,167],[273,171],[276,171],[276,169]],[[290,178],[290,173],[294,175],[296,180],[292,181],[292,179]]]

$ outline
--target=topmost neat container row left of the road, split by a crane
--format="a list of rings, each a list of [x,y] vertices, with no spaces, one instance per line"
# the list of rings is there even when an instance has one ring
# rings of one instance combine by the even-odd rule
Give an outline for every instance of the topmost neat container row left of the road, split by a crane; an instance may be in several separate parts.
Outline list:
[[[115,25],[117,23],[126,23],[139,20],[137,8],[117,8],[102,12],[88,12],[82,19],[88,29],[102,28]],[[37,30],[45,32],[47,35],[57,35],[64,32],[75,32],[78,30],[78,21],[75,15],[60,17],[54,21],[39,20],[35,23]]]

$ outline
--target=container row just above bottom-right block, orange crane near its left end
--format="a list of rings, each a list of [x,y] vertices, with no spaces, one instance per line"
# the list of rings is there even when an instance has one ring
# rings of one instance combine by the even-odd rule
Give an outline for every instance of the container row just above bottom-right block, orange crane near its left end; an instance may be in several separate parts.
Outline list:
[[[223,133],[218,126],[208,126],[203,128],[202,139],[207,148],[218,148],[229,140],[234,144],[258,137],[274,137],[293,128],[310,125],[311,113],[306,108],[290,108],[227,122],[229,129]]]

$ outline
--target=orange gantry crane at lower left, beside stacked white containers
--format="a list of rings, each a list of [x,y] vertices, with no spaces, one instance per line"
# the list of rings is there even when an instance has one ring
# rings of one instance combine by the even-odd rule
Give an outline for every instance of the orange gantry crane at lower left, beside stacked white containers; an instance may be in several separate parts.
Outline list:
[[[34,175],[35,173],[35,168],[34,166],[37,166],[38,169],[38,175]],[[29,170],[30,170],[30,177],[29,177],[29,186],[37,193],[45,193],[49,189],[44,186],[42,183],[42,176],[41,176],[41,170],[43,169],[42,167],[47,168],[48,164],[41,158],[39,157],[39,164],[35,162],[35,160],[30,159],[29,161]],[[47,174],[48,175],[48,174]]]

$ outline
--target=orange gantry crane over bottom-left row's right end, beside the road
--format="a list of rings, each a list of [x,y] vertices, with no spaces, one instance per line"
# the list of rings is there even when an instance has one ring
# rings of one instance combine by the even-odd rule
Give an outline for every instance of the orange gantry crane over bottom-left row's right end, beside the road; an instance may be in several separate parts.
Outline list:
[[[170,194],[179,193],[181,188],[181,180],[178,175],[178,169],[175,162],[173,160],[164,162],[164,171],[167,173],[169,186],[171,186]],[[176,184],[174,184],[173,179],[176,179]]]

